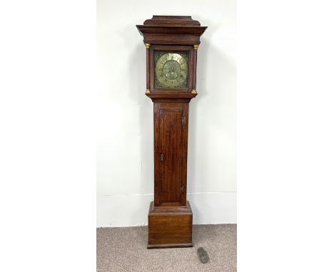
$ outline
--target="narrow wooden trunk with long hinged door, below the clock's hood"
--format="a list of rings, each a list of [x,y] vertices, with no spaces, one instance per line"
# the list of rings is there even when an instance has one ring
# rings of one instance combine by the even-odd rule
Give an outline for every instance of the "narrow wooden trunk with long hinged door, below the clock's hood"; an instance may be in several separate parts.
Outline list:
[[[155,206],[186,206],[188,103],[154,103]]]

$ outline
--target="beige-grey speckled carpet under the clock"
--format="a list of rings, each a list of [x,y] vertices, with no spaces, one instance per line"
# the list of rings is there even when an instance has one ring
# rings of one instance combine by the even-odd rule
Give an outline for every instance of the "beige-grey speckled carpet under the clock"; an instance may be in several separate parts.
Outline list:
[[[147,226],[97,229],[97,271],[236,271],[236,224],[194,225],[193,248],[146,249]],[[210,261],[201,263],[198,247]]]

